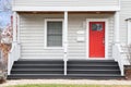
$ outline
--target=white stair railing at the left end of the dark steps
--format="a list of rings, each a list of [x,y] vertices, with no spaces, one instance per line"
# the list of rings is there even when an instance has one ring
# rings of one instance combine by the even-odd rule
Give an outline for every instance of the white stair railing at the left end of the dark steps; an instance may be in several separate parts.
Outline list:
[[[11,69],[13,66],[14,61],[17,61],[20,58],[20,44],[12,44],[12,48],[8,57],[8,75],[11,74]]]

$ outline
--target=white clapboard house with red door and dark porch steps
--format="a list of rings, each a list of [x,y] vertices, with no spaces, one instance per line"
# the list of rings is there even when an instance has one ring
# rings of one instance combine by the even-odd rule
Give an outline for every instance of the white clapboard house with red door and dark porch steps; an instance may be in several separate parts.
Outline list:
[[[123,77],[130,8],[131,0],[13,0],[9,78]]]

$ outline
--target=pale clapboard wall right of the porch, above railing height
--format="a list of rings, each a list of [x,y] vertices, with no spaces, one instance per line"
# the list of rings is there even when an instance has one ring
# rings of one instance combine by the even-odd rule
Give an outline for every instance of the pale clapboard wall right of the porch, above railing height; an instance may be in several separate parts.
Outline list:
[[[131,17],[131,0],[121,0],[120,11],[120,41],[128,41],[128,27],[126,20]]]

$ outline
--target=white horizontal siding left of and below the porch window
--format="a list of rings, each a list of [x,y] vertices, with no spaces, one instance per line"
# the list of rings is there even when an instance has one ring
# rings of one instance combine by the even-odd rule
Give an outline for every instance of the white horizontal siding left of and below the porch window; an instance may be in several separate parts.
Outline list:
[[[62,15],[58,15],[59,17]],[[57,16],[57,17],[58,17]],[[62,59],[63,50],[45,49],[44,20],[55,15],[20,15],[20,41],[22,59]]]

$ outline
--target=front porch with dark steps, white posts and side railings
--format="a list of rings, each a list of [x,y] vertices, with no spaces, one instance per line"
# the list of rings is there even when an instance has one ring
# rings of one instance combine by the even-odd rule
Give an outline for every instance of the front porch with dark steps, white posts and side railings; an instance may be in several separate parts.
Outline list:
[[[27,75],[31,78],[119,78],[123,75],[123,69],[119,70],[120,64],[114,61],[116,58],[112,54],[112,47],[119,41],[119,12],[14,12],[13,18],[14,42],[9,54],[9,78],[10,75],[14,78],[15,76],[26,78]],[[58,34],[62,39],[58,44],[61,44],[60,48],[47,48],[48,21],[62,22],[62,34]],[[105,47],[103,57],[90,55],[90,22],[105,22],[105,39],[102,39]],[[41,61],[39,70],[37,70],[40,62],[38,60]],[[61,60],[60,64],[58,64],[59,60]],[[52,70],[53,67],[47,70],[46,62],[49,66],[50,64],[53,66],[53,63],[59,65],[58,71]],[[31,69],[33,63],[34,69]],[[70,69],[71,66],[73,67]]]

